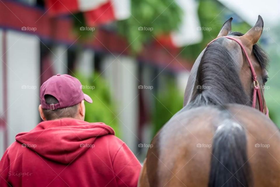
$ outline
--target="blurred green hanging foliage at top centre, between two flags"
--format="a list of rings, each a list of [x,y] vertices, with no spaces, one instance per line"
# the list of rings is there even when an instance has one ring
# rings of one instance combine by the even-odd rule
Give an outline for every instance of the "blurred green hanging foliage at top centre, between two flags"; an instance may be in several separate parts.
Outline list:
[[[178,29],[183,11],[173,0],[131,0],[131,14],[127,20],[117,22],[118,31],[131,44],[132,51],[139,52],[154,37]]]

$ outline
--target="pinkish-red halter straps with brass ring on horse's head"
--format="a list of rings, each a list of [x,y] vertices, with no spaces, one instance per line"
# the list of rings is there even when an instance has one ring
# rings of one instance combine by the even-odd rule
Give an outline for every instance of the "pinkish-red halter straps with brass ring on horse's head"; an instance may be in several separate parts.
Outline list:
[[[258,82],[258,79],[257,79],[257,74],[256,74],[255,69],[253,67],[253,64],[252,64],[252,62],[251,62],[251,60],[250,60],[250,58],[248,56],[248,53],[245,50],[244,45],[239,40],[237,40],[236,38],[229,37],[229,36],[223,36],[223,37],[236,41],[239,44],[239,46],[241,47],[243,53],[245,54],[245,56],[247,58],[247,61],[248,61],[249,65],[250,65],[250,69],[251,69],[251,72],[252,72],[252,78],[253,78],[253,84],[254,84],[253,105],[252,105],[252,107],[253,108],[256,107],[256,100],[257,100],[257,95],[258,95],[260,111],[264,112],[263,111],[262,96],[260,94],[260,86],[259,86],[259,82]],[[216,41],[219,38],[213,39],[212,41],[209,42],[209,44],[211,44],[213,41]],[[207,44],[207,46],[209,46],[209,44]],[[268,116],[268,108],[266,108],[266,114],[265,115]]]

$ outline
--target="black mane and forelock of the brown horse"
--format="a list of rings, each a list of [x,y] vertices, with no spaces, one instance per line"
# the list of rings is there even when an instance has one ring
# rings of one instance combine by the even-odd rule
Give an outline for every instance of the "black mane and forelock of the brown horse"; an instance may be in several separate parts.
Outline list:
[[[231,32],[228,35],[242,36],[243,34]],[[225,38],[214,41],[205,49],[197,70],[197,95],[187,108],[209,104],[252,104],[251,97],[245,93],[241,84],[234,57],[221,44],[223,39]],[[266,69],[268,57],[265,51],[255,44],[253,54],[262,69]]]

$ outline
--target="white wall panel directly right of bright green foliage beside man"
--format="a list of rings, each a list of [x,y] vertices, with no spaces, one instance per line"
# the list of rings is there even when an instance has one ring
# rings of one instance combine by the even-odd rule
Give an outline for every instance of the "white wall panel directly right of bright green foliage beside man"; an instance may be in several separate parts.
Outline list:
[[[138,85],[136,60],[126,56],[115,59],[107,55],[103,59],[104,75],[110,82],[111,92],[116,100],[117,113],[122,132],[122,140],[135,153],[138,149]]]

